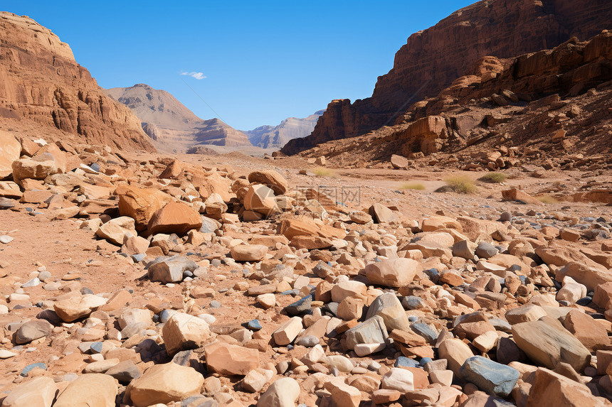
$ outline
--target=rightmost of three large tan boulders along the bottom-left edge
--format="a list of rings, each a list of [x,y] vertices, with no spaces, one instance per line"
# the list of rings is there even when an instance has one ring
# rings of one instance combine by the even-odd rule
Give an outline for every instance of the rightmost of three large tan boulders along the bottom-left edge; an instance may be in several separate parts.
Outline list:
[[[156,364],[130,382],[126,396],[130,397],[136,407],[167,404],[200,394],[203,384],[204,376],[196,369],[174,362]]]

